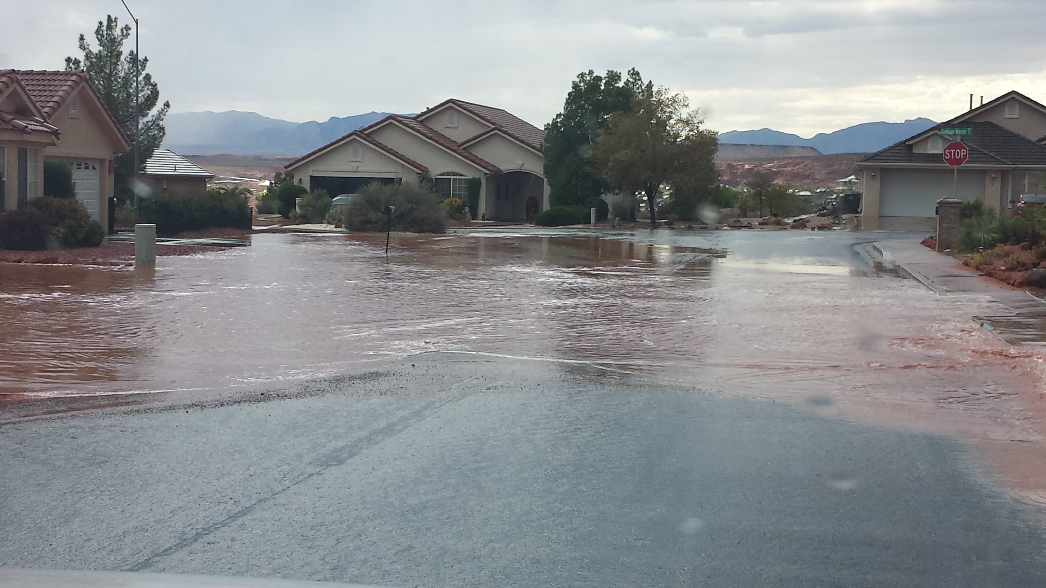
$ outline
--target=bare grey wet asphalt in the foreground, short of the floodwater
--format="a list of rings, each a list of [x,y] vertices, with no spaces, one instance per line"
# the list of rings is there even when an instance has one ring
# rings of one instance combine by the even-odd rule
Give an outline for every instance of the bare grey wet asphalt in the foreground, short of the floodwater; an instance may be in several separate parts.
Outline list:
[[[413,366],[411,365],[413,362]],[[952,438],[586,365],[428,354],[0,426],[0,566],[386,586],[1041,586]]]

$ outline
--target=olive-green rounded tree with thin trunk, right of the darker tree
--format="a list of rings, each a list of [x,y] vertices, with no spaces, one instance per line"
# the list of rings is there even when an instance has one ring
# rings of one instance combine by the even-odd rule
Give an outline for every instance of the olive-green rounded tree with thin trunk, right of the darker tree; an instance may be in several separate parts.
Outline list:
[[[719,141],[703,123],[684,94],[647,82],[632,109],[612,114],[599,133],[592,150],[596,173],[622,193],[645,195],[651,226],[657,226],[657,199],[665,184],[686,191],[717,183]]]

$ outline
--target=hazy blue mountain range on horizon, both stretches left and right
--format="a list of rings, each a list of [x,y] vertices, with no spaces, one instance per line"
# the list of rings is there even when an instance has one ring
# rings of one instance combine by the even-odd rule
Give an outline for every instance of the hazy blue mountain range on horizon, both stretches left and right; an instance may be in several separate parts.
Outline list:
[[[368,112],[331,117],[325,122],[291,122],[236,110],[183,112],[170,114],[164,121],[167,136],[163,146],[182,155],[303,155],[388,114]],[[864,122],[809,139],[772,129],[729,131],[720,134],[719,139],[724,144],[814,148],[825,155],[871,153],[934,125],[929,118],[912,118],[904,122]]]

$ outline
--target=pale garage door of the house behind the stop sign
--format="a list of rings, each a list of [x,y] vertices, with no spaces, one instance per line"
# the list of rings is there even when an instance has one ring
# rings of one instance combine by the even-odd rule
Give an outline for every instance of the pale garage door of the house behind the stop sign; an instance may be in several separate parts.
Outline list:
[[[950,171],[883,169],[879,191],[880,217],[933,217],[937,201],[955,194]],[[984,199],[984,173],[959,171],[958,197]]]

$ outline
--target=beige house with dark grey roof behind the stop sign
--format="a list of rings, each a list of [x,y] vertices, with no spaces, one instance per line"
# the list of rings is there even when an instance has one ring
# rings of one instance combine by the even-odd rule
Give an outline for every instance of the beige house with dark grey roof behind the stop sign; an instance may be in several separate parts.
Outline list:
[[[970,151],[957,177],[943,161],[953,137],[943,128],[969,129]],[[1046,172],[1046,106],[1008,92],[932,129],[873,153],[856,165],[864,187],[865,228],[919,227],[933,222],[937,200],[980,200],[1008,217],[1021,194]],[[956,189],[957,188],[957,189]]]

